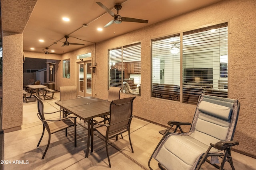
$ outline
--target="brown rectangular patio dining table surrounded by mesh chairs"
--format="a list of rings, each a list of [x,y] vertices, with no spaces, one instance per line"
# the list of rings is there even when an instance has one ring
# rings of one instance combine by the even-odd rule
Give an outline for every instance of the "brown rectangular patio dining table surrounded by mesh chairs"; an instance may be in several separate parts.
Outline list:
[[[93,118],[106,115],[110,111],[110,103],[108,100],[103,100],[94,97],[76,98],[72,100],[55,102],[63,110],[76,115],[80,119],[88,123],[88,138],[86,158],[89,155],[89,147],[91,141],[91,152],[93,152]]]

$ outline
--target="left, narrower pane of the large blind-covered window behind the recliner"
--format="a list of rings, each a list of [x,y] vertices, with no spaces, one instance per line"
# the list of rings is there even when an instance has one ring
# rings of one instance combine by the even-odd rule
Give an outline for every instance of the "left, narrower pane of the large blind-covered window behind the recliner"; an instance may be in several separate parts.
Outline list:
[[[152,97],[180,101],[180,34],[151,43]]]

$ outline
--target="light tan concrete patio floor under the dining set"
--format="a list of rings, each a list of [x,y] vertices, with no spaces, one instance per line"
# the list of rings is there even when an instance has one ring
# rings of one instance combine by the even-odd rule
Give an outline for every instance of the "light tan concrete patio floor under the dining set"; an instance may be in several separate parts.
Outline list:
[[[57,111],[59,107],[54,104],[59,100],[59,93],[54,94],[53,100],[44,101],[44,111]],[[37,102],[23,103],[22,129],[4,133],[4,159],[10,164],[4,164],[4,170],[103,170],[110,169],[106,155],[105,142],[102,137],[94,132],[94,151],[89,152],[85,158],[87,144],[87,123],[77,119],[77,147],[74,147],[74,128],[51,135],[50,147],[44,159],[42,155],[48,142],[46,132],[39,147],[36,147],[42,134],[42,122],[36,113]],[[47,118],[58,119],[60,113],[47,115]],[[156,145],[162,138],[158,131],[164,129],[159,125],[138,118],[133,118],[131,123],[131,140],[134,149],[132,153],[128,133],[124,139],[109,140],[109,154],[112,170],[148,170],[148,160]],[[232,152],[236,170],[256,170],[256,159]],[[151,167],[159,170],[157,162],[153,159]],[[207,162],[202,170],[215,170]],[[226,170],[231,170],[228,163]]]

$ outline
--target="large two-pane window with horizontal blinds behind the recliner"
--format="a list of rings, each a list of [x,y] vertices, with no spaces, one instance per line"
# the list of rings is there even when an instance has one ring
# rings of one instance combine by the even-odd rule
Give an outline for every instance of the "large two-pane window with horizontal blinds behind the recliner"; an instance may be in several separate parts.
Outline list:
[[[196,105],[201,94],[228,96],[227,23],[152,40],[152,97]]]

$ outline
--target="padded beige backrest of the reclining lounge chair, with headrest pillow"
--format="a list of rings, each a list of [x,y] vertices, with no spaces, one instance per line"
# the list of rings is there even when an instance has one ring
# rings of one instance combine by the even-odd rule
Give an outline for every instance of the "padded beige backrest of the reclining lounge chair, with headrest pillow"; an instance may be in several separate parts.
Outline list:
[[[234,137],[239,109],[238,100],[201,95],[190,136],[206,145],[231,141]]]

